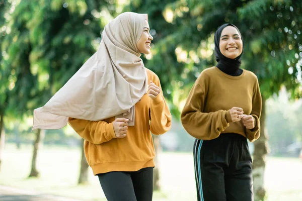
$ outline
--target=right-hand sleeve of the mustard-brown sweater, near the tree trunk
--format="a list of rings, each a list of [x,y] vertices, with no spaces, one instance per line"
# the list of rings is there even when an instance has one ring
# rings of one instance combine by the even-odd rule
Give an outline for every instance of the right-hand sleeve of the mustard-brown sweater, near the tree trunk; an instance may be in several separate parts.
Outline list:
[[[260,136],[260,115],[261,115],[262,99],[258,80],[254,86],[253,99],[252,99],[252,112],[250,115],[255,120],[255,128],[245,129],[246,136],[250,142],[257,140]]]

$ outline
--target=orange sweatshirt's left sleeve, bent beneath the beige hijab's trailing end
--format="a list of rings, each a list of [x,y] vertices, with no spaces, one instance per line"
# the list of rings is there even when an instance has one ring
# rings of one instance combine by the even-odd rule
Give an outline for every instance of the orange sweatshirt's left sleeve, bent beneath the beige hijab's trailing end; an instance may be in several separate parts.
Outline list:
[[[116,138],[112,123],[69,118],[69,125],[86,141],[102,144]]]

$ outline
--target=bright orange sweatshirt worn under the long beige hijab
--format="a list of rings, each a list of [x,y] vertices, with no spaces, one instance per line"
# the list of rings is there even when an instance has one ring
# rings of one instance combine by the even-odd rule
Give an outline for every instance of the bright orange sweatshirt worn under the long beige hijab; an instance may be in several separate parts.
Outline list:
[[[146,69],[148,80],[161,88],[159,77]],[[163,96],[152,99],[145,93],[135,104],[134,126],[128,126],[125,138],[116,138],[112,122],[88,121],[69,118],[69,125],[85,139],[84,151],[93,173],[111,171],[137,171],[154,167],[155,149],[152,135],[161,135],[171,128],[171,114]]]

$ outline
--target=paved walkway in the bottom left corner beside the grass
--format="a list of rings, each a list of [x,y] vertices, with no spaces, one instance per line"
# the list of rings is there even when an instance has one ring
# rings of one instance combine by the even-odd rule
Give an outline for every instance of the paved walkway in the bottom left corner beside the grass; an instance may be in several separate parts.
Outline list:
[[[0,185],[1,201],[81,201],[79,199],[61,197],[40,192],[22,190]]]

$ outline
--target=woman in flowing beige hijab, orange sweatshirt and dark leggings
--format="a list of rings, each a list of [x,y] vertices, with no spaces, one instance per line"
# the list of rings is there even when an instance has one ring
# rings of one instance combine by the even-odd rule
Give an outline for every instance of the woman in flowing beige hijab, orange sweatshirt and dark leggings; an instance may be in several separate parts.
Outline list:
[[[67,122],[85,139],[86,159],[109,201],[153,195],[152,132],[171,128],[159,77],[146,69],[153,37],[147,15],[123,13],[105,26],[98,51],[41,108],[33,129]]]

